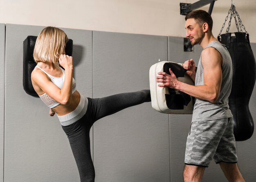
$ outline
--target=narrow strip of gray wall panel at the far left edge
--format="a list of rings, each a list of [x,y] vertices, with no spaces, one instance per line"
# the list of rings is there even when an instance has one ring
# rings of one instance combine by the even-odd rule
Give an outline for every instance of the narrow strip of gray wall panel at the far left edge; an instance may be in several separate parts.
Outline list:
[[[0,24],[0,182],[4,173],[4,52],[5,24]]]

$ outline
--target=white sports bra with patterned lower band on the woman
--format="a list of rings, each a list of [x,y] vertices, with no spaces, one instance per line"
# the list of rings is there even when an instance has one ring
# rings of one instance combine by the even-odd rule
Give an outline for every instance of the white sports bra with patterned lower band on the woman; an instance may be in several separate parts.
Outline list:
[[[58,66],[58,65],[56,65]],[[43,70],[42,68],[40,68],[39,66],[36,66],[37,68],[39,68],[40,70],[42,70],[46,75],[48,75],[52,81],[52,83],[54,83],[54,85],[56,85],[59,89],[62,88],[63,83],[64,83],[64,79],[65,79],[65,70],[63,70],[61,67],[61,71],[62,71],[62,76],[61,77],[54,77],[50,74],[48,74],[47,72],[45,72],[45,70]],[[76,81],[73,78],[72,81],[72,94],[76,91]],[[56,107],[57,105],[60,105],[60,103],[58,103],[57,101],[55,101],[54,99],[52,99],[52,97],[50,97],[48,94],[44,93],[42,95],[39,95],[40,99],[50,108]]]

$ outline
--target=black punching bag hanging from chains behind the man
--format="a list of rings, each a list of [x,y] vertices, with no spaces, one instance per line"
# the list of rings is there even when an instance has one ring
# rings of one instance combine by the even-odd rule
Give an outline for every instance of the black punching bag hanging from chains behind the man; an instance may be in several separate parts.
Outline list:
[[[230,14],[229,26],[225,34],[221,34],[225,22]],[[231,19],[234,17],[238,32],[229,33]],[[240,30],[238,28],[238,18]],[[254,132],[254,122],[249,111],[249,100],[254,89],[256,79],[255,58],[250,46],[249,34],[245,30],[234,4],[225,19],[218,35],[220,43],[225,44],[230,53],[233,64],[233,82],[229,96],[229,108],[234,116],[234,136],[236,141],[249,139]]]

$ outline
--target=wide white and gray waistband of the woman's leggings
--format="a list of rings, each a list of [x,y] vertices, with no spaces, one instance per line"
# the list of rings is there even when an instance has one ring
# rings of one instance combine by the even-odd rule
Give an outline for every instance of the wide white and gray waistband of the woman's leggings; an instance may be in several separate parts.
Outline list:
[[[83,115],[86,113],[87,110],[87,105],[88,105],[88,98],[80,95],[80,102],[78,104],[78,106],[76,107],[76,109],[68,114],[65,114],[63,116],[58,116],[58,119],[61,122],[61,125],[63,126],[67,126],[70,125],[74,122],[76,122],[77,120],[79,120],[80,118],[83,117]]]

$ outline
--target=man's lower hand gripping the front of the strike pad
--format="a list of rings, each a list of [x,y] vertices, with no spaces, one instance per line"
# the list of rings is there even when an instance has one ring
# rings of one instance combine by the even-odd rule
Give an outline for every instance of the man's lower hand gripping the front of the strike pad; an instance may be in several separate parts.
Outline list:
[[[159,84],[159,87],[169,87],[175,89],[177,86],[177,78],[172,72],[171,68],[169,68],[169,72],[171,75],[168,75],[166,72],[158,72],[157,76],[157,82],[158,83],[164,83],[164,84]]]

